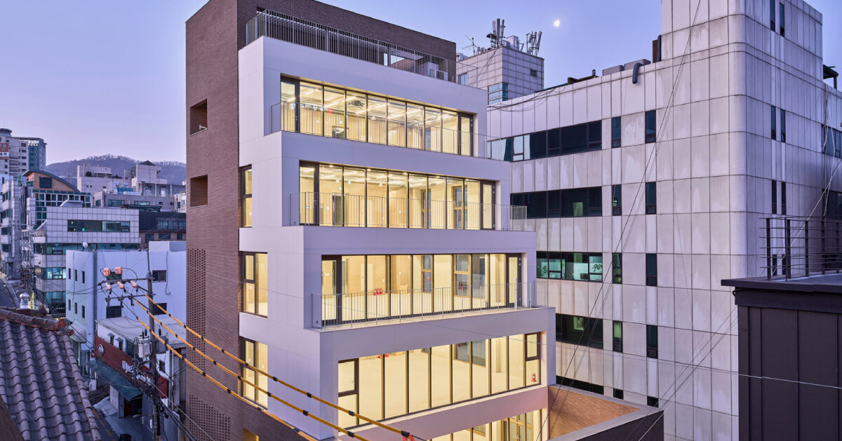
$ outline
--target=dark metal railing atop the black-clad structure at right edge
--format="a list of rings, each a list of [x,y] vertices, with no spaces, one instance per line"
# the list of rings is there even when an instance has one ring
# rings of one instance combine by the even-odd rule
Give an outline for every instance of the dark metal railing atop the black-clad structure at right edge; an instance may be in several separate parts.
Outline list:
[[[842,273],[842,220],[772,216],[760,218],[759,228],[766,279]]]

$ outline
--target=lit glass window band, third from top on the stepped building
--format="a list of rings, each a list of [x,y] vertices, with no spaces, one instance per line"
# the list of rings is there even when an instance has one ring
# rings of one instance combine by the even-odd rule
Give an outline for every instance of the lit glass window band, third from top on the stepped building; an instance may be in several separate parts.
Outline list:
[[[520,254],[323,256],[321,326],[520,305]]]

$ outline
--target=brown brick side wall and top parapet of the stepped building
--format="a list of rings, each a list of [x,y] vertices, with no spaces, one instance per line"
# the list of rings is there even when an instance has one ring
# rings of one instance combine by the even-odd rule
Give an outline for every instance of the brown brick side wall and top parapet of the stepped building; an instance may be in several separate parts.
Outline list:
[[[187,212],[187,321],[205,338],[233,353],[240,352],[237,50],[245,45],[246,23],[258,8],[456,59],[456,44],[451,41],[312,0],[210,0],[187,21],[187,178],[189,183],[201,183],[202,188],[195,190],[203,196],[205,180],[193,178],[207,176],[207,205],[191,206]],[[205,100],[207,129],[189,135],[189,109]],[[191,186],[187,196],[193,201]],[[218,360],[235,372],[240,369],[224,356]],[[240,390],[237,380],[218,367],[210,363],[200,366],[232,391]],[[277,374],[282,376],[283,372]],[[187,387],[188,414],[195,428],[191,432],[200,439],[242,439],[242,428],[265,439],[301,439],[192,370]]]

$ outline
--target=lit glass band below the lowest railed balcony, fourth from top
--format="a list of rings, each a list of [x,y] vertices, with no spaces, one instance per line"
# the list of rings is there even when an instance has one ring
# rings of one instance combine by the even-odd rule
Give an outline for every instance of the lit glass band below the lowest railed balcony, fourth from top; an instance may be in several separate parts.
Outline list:
[[[540,344],[540,334],[344,360],[338,364],[339,401],[380,420],[540,385],[540,370],[530,369],[530,364],[540,369],[540,358],[530,357],[533,342]],[[360,423],[347,414],[339,422],[344,428]]]

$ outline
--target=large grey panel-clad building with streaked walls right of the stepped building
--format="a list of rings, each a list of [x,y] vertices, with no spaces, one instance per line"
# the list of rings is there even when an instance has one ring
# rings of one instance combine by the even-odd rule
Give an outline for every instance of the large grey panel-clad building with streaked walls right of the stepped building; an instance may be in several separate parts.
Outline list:
[[[807,3],[661,12],[652,64],[491,106],[489,150],[536,231],[559,382],[662,408],[669,439],[738,439],[745,349],[720,281],[765,261],[759,216],[823,212],[842,94]]]

